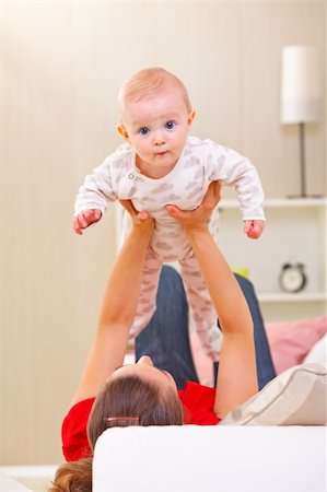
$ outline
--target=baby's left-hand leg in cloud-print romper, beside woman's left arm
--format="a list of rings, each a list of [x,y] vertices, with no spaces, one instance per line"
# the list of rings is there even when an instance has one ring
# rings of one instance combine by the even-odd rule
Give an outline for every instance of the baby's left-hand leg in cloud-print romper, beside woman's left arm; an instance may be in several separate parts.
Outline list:
[[[138,261],[138,259],[136,259],[136,261]],[[153,254],[149,250],[143,268],[139,304],[133,324],[129,332],[129,338],[137,337],[152,318],[152,315],[156,307],[155,297],[161,268],[161,260],[154,257]]]

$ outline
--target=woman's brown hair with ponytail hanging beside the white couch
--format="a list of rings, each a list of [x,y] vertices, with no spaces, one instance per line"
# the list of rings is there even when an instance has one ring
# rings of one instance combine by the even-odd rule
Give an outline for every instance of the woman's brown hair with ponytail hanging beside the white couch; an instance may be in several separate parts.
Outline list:
[[[128,417],[138,418],[139,425],[182,425],[183,408],[173,387],[162,389],[139,376],[109,379],[97,395],[87,422],[92,453],[97,437],[108,426],[128,425]],[[91,491],[92,457],[61,465],[49,489],[49,492]]]

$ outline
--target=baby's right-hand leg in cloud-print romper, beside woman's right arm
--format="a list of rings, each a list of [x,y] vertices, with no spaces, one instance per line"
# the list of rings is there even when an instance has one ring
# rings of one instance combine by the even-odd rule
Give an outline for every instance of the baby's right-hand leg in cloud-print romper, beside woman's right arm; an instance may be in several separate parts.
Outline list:
[[[199,263],[195,257],[191,257],[180,260],[180,267],[197,333],[206,353],[212,361],[217,362],[219,361],[222,332],[218,327],[217,314]]]

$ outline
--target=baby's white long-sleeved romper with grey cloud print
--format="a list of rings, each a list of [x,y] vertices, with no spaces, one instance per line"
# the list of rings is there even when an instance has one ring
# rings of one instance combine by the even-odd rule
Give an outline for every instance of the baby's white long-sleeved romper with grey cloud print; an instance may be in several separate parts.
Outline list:
[[[135,150],[128,144],[120,145],[85,177],[75,200],[75,214],[87,209],[104,212],[108,201],[130,199],[137,210],[145,210],[154,218],[130,337],[136,337],[148,325],[155,311],[162,263],[178,261],[196,330],[207,354],[212,361],[218,361],[222,333],[217,326],[217,314],[184,229],[164,208],[165,204],[175,204],[182,210],[196,209],[214,180],[235,187],[243,220],[265,220],[264,191],[253,164],[231,149],[197,137],[187,138],[175,167],[160,179],[142,175],[136,166]],[[215,242],[218,220],[217,208],[209,224]],[[130,225],[130,218],[125,213],[124,236]]]

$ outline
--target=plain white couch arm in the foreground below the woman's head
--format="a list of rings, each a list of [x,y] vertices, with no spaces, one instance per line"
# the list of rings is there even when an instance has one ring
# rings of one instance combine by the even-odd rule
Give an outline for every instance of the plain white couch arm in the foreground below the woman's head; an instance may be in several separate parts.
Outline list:
[[[324,426],[151,426],[106,431],[94,492],[325,492]]]

